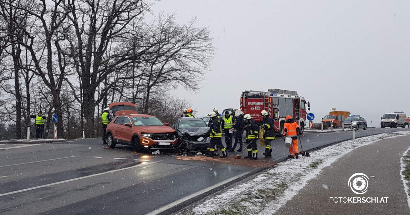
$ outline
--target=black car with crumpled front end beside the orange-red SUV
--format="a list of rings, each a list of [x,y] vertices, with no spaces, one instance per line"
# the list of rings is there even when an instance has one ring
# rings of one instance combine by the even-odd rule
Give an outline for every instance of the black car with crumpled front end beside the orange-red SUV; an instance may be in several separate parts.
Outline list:
[[[177,149],[187,152],[206,152],[210,147],[211,128],[200,118],[178,118],[173,127],[178,134]]]

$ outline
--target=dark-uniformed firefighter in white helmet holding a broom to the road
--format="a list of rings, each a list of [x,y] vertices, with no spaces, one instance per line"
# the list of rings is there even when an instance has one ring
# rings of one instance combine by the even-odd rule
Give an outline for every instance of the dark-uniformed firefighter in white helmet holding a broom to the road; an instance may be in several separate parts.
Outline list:
[[[259,134],[259,127],[257,126],[255,120],[252,119],[250,114],[246,114],[244,116],[244,121],[246,127],[246,144],[248,144],[248,156],[245,158],[257,160],[256,140]]]

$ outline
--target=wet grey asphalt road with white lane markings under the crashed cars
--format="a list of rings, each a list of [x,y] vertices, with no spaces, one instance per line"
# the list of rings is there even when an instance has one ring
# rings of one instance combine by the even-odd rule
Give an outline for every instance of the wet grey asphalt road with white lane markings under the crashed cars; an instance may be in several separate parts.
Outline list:
[[[400,130],[408,129],[369,128],[356,137]],[[301,140],[308,150],[352,135],[305,133]],[[100,139],[0,145],[0,213],[168,214],[287,156],[281,138],[272,146],[272,158],[260,153],[249,161],[232,152],[227,159],[140,154],[128,146],[107,149]]]

